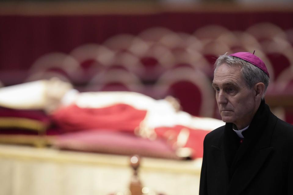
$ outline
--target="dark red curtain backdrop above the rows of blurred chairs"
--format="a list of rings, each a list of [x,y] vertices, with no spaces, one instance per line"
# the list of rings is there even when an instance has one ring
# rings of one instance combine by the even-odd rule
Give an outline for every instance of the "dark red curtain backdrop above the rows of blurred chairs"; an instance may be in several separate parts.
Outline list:
[[[101,44],[116,34],[137,35],[151,27],[166,27],[192,34],[197,28],[210,24],[222,25],[229,30],[246,30],[260,22],[271,22],[287,30],[293,27],[293,11],[1,15],[0,70],[25,70],[46,53],[68,53],[82,44]],[[1,77],[3,75],[0,75],[0,80]]]

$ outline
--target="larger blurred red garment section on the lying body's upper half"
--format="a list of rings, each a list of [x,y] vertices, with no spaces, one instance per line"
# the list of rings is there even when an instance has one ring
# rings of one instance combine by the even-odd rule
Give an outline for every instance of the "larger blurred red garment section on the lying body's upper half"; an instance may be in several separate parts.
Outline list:
[[[52,119],[64,132],[87,129],[134,132],[146,114],[146,110],[138,110],[126,104],[103,108],[80,108],[73,104],[54,112]]]

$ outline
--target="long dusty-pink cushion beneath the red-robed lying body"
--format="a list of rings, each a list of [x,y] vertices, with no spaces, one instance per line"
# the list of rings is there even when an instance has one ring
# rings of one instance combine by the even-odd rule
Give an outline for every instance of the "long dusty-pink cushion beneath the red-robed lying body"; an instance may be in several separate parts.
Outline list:
[[[56,137],[53,145],[60,149],[110,154],[179,159],[165,141],[137,137],[132,133],[91,130],[66,133]]]

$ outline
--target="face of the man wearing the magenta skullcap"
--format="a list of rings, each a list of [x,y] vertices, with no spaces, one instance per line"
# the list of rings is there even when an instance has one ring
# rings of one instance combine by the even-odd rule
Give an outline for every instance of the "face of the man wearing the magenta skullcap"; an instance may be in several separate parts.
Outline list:
[[[224,122],[234,123],[238,129],[248,126],[255,112],[255,93],[248,87],[239,66],[222,64],[214,74],[213,88]]]

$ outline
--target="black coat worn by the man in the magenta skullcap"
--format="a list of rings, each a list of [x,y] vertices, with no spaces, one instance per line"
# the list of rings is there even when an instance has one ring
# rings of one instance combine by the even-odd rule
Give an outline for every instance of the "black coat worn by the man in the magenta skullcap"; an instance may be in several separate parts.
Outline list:
[[[293,126],[278,119],[264,100],[243,132],[232,123],[204,139],[200,195],[292,195]]]

